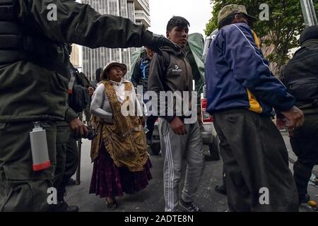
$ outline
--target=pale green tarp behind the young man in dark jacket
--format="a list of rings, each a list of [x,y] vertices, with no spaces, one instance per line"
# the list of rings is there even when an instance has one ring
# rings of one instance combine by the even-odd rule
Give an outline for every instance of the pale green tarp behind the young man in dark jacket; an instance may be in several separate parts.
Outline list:
[[[203,86],[205,84],[204,79],[204,58],[202,57],[204,50],[204,37],[200,33],[193,33],[189,34],[188,37],[188,44],[185,48],[187,52],[187,59],[189,60],[192,71],[193,77],[196,84],[196,91],[198,91],[198,96],[202,93]],[[128,75],[128,79],[131,79],[131,75],[134,71],[134,66],[136,61],[138,61],[145,51],[144,48],[138,49],[134,52],[131,56],[131,70]]]

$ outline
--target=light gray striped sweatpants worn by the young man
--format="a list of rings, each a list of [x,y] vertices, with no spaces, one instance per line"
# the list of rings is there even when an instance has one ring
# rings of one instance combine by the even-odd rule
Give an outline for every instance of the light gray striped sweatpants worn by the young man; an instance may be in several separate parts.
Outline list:
[[[194,201],[204,169],[203,143],[199,123],[185,124],[187,134],[179,136],[170,128],[170,124],[159,118],[161,153],[163,154],[163,186],[165,211],[177,211],[179,204],[179,182],[182,160],[187,159],[187,172],[184,180],[182,199]]]

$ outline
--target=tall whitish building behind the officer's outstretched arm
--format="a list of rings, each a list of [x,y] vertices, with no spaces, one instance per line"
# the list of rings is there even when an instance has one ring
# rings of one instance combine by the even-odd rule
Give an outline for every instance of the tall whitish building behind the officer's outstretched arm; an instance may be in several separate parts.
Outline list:
[[[129,18],[137,24],[147,28],[151,25],[149,0],[82,0],[101,14],[111,14]],[[97,35],[97,34],[96,34]],[[83,73],[93,80],[95,70],[104,67],[111,61],[119,61],[127,65],[130,70],[131,54],[136,48],[129,49],[90,49],[83,47]]]

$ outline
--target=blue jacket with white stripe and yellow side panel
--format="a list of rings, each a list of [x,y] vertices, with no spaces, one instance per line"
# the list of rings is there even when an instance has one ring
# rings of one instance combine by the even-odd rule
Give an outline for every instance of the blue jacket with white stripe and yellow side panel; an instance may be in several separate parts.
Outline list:
[[[285,111],[295,98],[269,69],[269,62],[245,23],[220,29],[206,58],[206,86],[210,114],[246,107],[273,116],[273,108]]]

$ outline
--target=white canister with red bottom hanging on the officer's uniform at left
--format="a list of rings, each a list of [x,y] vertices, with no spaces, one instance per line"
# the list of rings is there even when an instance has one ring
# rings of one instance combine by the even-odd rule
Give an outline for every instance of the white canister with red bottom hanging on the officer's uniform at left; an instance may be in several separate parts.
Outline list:
[[[40,171],[51,166],[49,150],[47,148],[47,133],[42,129],[40,121],[34,122],[34,129],[30,132],[33,170]]]

